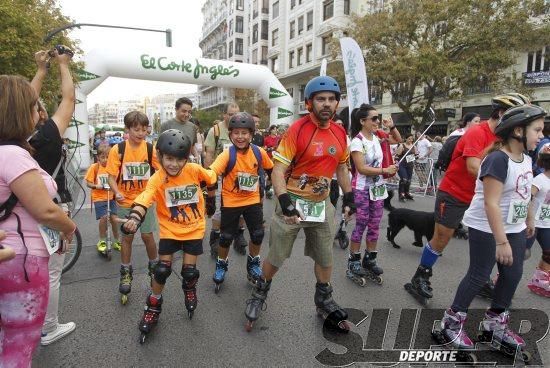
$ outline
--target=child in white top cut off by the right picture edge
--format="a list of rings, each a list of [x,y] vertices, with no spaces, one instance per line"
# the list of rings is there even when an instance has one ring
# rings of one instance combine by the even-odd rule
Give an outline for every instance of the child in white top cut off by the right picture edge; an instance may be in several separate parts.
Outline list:
[[[538,153],[537,167],[543,172],[533,180],[531,194],[532,213],[535,214],[535,235],[527,239],[527,248],[531,249],[535,240],[542,248],[542,258],[533,277],[527,284],[535,294],[550,297],[550,143],[542,146]]]

